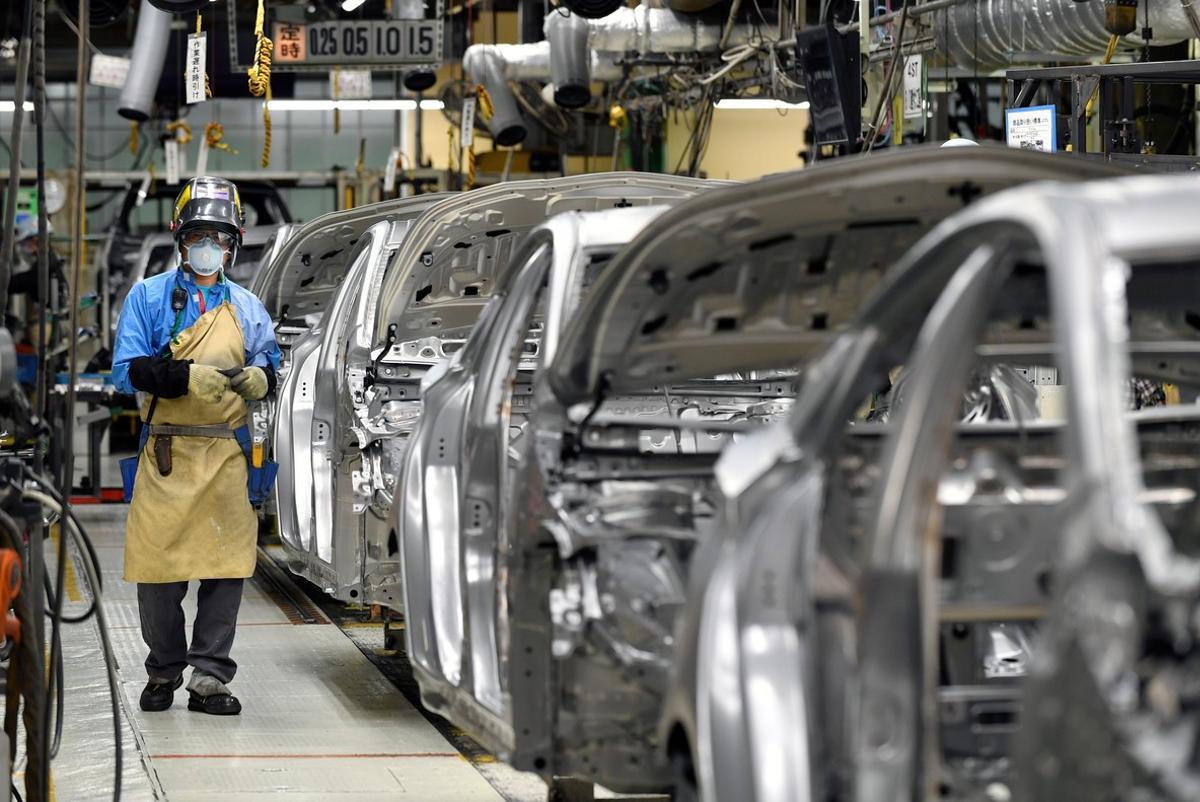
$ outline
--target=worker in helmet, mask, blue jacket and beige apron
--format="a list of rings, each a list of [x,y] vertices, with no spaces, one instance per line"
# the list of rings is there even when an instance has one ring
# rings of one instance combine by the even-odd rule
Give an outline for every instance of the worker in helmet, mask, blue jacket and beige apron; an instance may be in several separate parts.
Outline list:
[[[138,585],[150,648],[140,704],[170,707],[191,665],[187,708],[233,716],[241,704],[227,687],[238,668],[229,651],[258,534],[247,479],[253,487],[260,472],[250,456],[247,405],[275,390],[280,348],[262,301],[224,276],[244,232],[238,187],[190,180],[170,229],[180,267],[130,291],[113,353],[113,381],[143,394],[146,424],[138,457],[122,465],[132,492],[125,580]],[[188,645],[180,605],[193,580]]]

